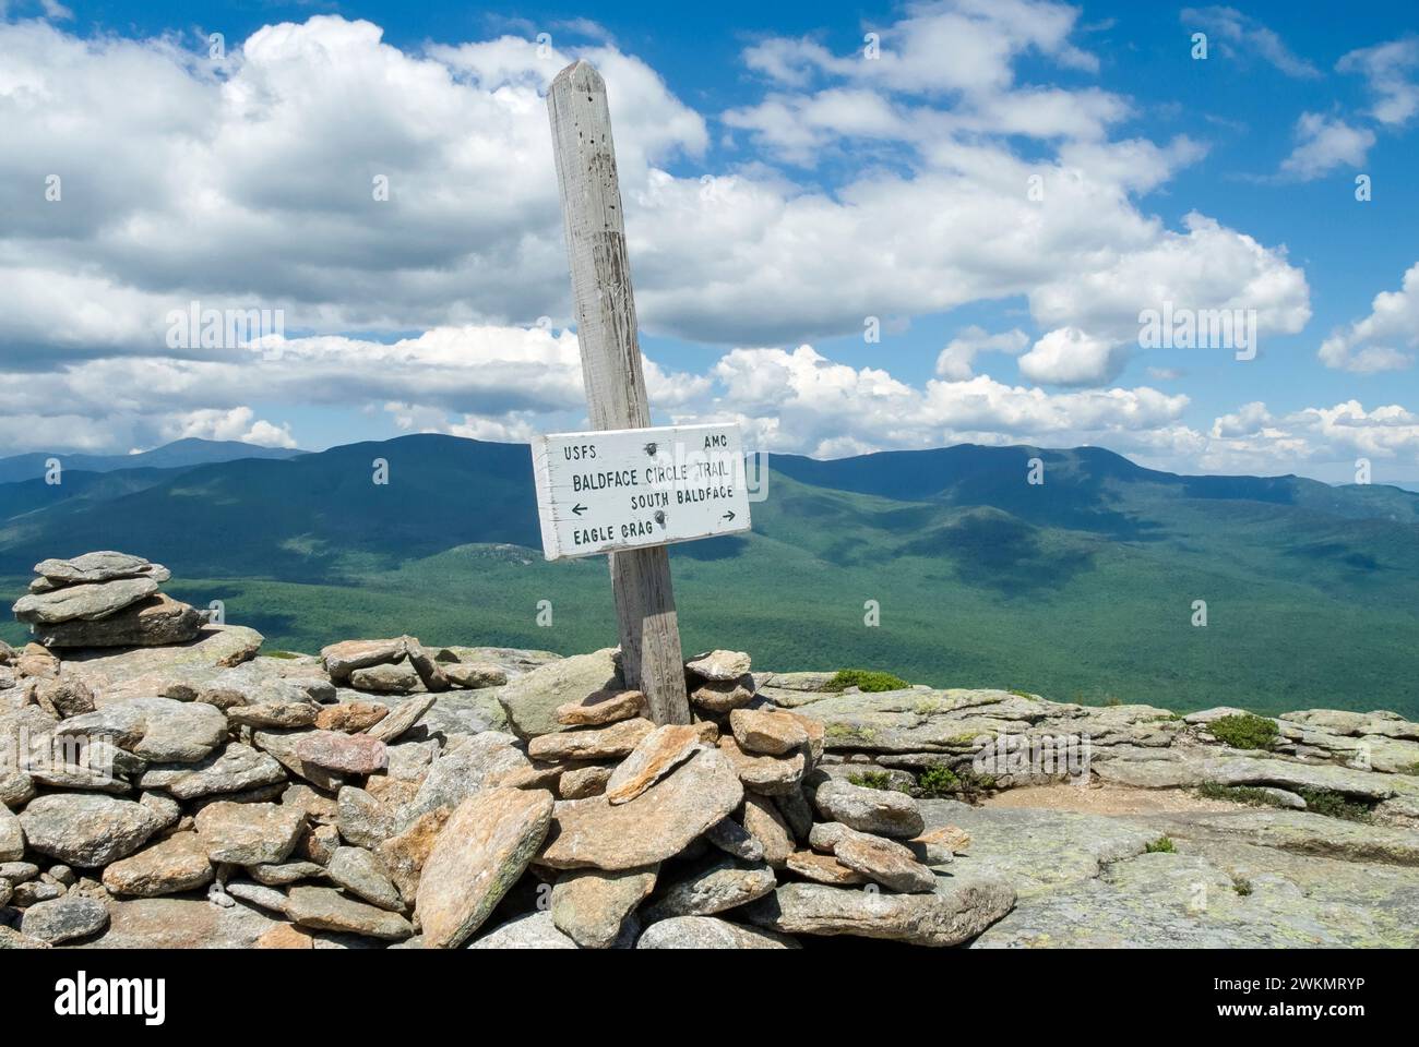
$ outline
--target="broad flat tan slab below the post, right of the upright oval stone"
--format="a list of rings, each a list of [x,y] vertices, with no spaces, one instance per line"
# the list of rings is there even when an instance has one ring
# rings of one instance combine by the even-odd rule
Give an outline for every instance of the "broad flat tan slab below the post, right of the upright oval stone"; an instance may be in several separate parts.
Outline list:
[[[700,752],[630,803],[561,800],[538,861],[552,868],[627,870],[678,854],[744,800],[718,750]]]

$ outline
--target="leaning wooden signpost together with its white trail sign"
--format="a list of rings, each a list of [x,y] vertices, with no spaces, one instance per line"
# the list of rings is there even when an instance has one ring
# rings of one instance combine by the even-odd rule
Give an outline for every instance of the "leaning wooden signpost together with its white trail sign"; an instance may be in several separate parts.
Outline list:
[[[639,471],[664,465],[654,461],[660,457],[660,445],[674,444],[677,437],[673,434],[688,430],[650,428],[606,82],[585,61],[568,65],[552,81],[546,108],[570,255],[586,404],[597,431],[542,437],[536,444],[541,450],[538,502],[543,552],[549,559],[607,552],[626,682],[646,694],[657,724],[688,724],[684,655],[664,543],[748,529],[742,472],[736,492],[697,501],[694,509],[687,502],[675,502],[678,480],[667,485],[660,475],[656,485],[633,491],[629,482],[597,478],[597,474],[620,472],[624,481],[627,470],[641,475]],[[712,428],[721,434],[732,431],[738,454],[738,430]],[[648,444],[657,445],[654,453],[646,451]],[[558,461],[573,447],[595,447],[596,461],[570,457]],[[674,464],[674,448],[668,464]],[[742,458],[738,468],[742,470]],[[576,489],[576,477],[592,477],[592,488]],[[708,482],[712,478],[712,474],[695,481],[687,477],[685,489],[697,484],[714,487]],[[637,494],[657,492],[668,492],[670,504],[654,506],[634,501]],[[578,505],[583,506],[580,512]],[[704,526],[707,508],[721,514],[724,528]],[[583,516],[586,524],[579,528]],[[695,529],[704,533],[691,533]]]

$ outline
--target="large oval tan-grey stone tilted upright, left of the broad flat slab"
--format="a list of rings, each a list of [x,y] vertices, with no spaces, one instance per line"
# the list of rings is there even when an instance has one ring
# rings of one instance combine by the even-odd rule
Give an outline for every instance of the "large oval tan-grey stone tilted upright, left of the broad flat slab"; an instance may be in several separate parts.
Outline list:
[[[424,946],[455,949],[526,870],[552,821],[552,794],[485,789],[453,813],[419,880]]]

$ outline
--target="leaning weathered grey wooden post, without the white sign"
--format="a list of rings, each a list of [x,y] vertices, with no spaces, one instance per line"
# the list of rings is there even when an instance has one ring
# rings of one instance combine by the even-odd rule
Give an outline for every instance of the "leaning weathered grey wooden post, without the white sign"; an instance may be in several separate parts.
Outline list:
[[[592,427],[646,428],[650,404],[606,81],[589,62],[573,62],[552,81],[546,108]],[[688,724],[670,556],[664,546],[654,546],[613,552],[609,559],[626,682],[644,691],[657,724]]]

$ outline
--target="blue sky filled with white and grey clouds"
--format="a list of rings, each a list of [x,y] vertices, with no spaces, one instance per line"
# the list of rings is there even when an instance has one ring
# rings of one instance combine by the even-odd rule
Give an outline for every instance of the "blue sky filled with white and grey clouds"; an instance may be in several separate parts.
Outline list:
[[[0,453],[580,427],[539,94],[589,57],[660,420],[1419,480],[1401,6],[0,10]],[[175,346],[193,301],[284,336]],[[1142,348],[1164,302],[1253,309],[1256,359]]]

